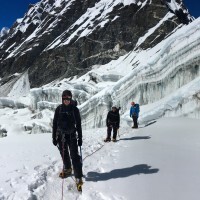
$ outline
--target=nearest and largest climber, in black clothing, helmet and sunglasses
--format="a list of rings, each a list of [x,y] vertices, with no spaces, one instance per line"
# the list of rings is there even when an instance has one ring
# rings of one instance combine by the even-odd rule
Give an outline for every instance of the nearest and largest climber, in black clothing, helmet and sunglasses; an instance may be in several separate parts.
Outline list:
[[[75,178],[82,181],[82,163],[78,154],[78,146],[82,146],[81,117],[69,90],[63,91],[62,104],[55,110],[52,139],[63,159],[63,170],[59,176],[65,178],[72,173],[72,160]]]

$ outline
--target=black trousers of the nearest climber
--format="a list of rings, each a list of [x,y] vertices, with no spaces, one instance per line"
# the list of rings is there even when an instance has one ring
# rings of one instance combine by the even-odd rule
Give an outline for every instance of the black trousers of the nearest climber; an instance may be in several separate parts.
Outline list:
[[[74,169],[75,178],[81,178],[83,176],[81,157],[78,154],[78,145],[76,134],[62,133],[58,136],[58,149],[63,160],[64,169],[71,167],[71,160]]]

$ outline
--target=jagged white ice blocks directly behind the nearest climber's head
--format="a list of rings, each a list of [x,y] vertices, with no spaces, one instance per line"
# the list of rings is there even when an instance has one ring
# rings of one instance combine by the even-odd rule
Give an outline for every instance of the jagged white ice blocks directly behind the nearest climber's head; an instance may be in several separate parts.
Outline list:
[[[31,89],[32,109],[43,110],[48,108],[54,110],[56,106],[62,103],[62,92],[64,90],[70,90],[72,92],[73,99],[78,102],[78,105],[83,104],[99,91],[94,87],[94,84],[70,82],[64,79],[41,88]]]

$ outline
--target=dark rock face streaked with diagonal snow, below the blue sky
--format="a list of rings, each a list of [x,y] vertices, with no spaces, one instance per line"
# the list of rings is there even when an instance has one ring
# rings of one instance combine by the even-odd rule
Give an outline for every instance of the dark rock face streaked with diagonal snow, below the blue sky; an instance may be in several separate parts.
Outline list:
[[[0,77],[29,69],[36,87],[81,75],[190,21],[181,0],[42,0],[0,42]]]

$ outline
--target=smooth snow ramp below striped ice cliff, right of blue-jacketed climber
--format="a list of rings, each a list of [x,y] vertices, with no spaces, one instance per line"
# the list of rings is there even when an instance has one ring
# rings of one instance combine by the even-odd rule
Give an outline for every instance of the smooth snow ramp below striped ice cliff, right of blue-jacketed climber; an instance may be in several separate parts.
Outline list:
[[[200,119],[200,77],[151,104],[142,107],[140,122],[147,123],[160,117],[190,117]],[[128,118],[129,113],[124,114]]]

